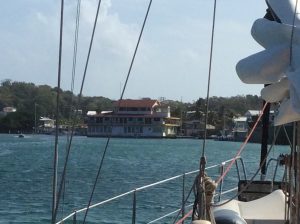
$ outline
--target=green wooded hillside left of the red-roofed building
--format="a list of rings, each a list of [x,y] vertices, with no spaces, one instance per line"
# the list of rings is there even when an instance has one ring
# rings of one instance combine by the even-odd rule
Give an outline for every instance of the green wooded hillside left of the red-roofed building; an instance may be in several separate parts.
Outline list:
[[[48,85],[4,80],[0,85],[0,111],[4,107],[15,107],[15,113],[0,116],[0,132],[33,132],[35,116],[55,119],[57,88]],[[78,97],[70,91],[60,90],[60,124],[71,124],[70,116],[75,111]],[[105,97],[83,97],[78,109],[86,114],[89,110],[112,109],[112,100]],[[83,117],[79,123],[83,123]]]

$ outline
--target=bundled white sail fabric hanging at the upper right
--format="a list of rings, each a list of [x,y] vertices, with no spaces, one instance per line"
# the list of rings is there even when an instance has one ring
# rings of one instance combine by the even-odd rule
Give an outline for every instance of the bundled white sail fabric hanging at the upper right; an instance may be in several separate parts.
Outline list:
[[[296,8],[296,1],[267,0],[270,15],[256,20],[251,30],[265,50],[236,65],[244,83],[270,84],[261,96],[280,103],[275,125],[300,120],[300,4]]]

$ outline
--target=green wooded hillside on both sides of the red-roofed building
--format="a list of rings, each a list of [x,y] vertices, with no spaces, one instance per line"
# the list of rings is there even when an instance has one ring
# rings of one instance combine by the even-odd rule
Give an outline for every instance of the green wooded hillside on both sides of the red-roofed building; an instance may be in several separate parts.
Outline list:
[[[0,85],[0,111],[4,107],[15,107],[17,112],[0,116],[0,132],[33,132],[36,118],[49,117],[55,119],[56,88],[48,85],[37,86],[33,83],[12,82],[4,80]],[[75,110],[78,97],[70,91],[60,90],[60,124],[70,124],[70,115]],[[111,110],[113,101],[105,97],[84,96],[78,106],[82,114],[87,111]],[[193,103],[166,100],[171,107],[171,114],[183,120],[203,119],[206,100],[199,98]],[[243,115],[247,110],[258,110],[262,101],[258,96],[211,97],[209,101],[208,123],[222,129],[232,126],[232,118]],[[188,113],[194,111],[194,113]],[[79,123],[84,123],[84,117]]]

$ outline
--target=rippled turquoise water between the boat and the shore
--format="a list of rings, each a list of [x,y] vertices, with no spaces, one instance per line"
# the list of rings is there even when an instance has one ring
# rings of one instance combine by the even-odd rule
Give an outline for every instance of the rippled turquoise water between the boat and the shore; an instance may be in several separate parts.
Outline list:
[[[59,217],[87,205],[105,143],[103,138],[74,138]],[[66,137],[60,137],[60,168],[65,144]],[[240,145],[208,141],[208,166],[231,158]],[[198,169],[201,147],[202,140],[196,139],[111,139],[93,203]],[[248,171],[258,166],[259,147],[249,144],[242,154]],[[271,155],[277,157],[288,150],[286,146],[276,146]],[[53,151],[53,136],[0,135],[0,223],[50,223]],[[187,178],[186,192],[192,179]],[[181,188],[182,179],[178,179],[138,192],[137,223],[149,222],[179,208]],[[88,223],[131,223],[131,207],[132,195],[129,195],[90,210],[87,220]]]

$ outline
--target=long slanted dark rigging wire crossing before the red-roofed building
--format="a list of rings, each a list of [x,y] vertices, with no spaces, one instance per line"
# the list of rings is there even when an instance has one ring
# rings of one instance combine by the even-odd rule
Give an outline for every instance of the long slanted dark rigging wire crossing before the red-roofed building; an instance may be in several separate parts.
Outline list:
[[[146,12],[146,15],[145,15],[145,18],[144,18],[144,21],[143,21],[143,25],[142,25],[142,28],[141,28],[141,31],[140,31],[140,34],[139,34],[139,38],[138,38],[138,41],[137,41],[137,44],[136,44],[136,47],[135,47],[135,50],[134,50],[134,54],[133,54],[133,57],[132,57],[132,60],[131,60],[130,66],[129,66],[129,70],[128,70],[128,73],[127,73],[127,76],[126,76],[126,81],[125,81],[125,84],[123,86],[123,90],[122,90],[122,93],[121,93],[121,96],[120,96],[120,99],[119,99],[119,102],[118,102],[118,108],[120,106],[121,100],[123,99],[123,96],[124,96],[124,93],[125,93],[125,90],[126,90],[126,87],[127,87],[127,83],[128,83],[128,80],[129,80],[129,77],[130,77],[130,74],[131,74],[132,66],[133,66],[133,63],[134,63],[134,60],[135,60],[135,57],[136,57],[136,53],[137,53],[138,47],[140,45],[141,37],[142,37],[143,31],[144,31],[144,27],[145,27],[145,24],[146,24],[148,15],[149,15],[149,11],[150,11],[151,5],[152,5],[152,0],[150,0],[149,4],[148,4],[147,12]],[[84,219],[83,219],[83,224],[86,221],[86,217],[87,217],[87,214],[88,214],[88,211],[89,211],[89,207],[91,205],[91,202],[92,202],[92,199],[93,199],[93,195],[94,195],[94,192],[95,192],[95,188],[96,188],[96,185],[97,185],[97,182],[98,182],[101,170],[102,170],[103,162],[104,162],[105,155],[106,155],[106,152],[107,152],[107,149],[108,149],[108,146],[109,146],[109,142],[110,142],[110,138],[111,138],[110,135],[107,138],[106,145],[105,145],[105,148],[104,148],[104,152],[102,154],[102,158],[101,158],[101,161],[100,161],[100,164],[99,164],[99,168],[98,168],[98,172],[97,172],[97,175],[96,175],[96,179],[95,179],[95,182],[94,182],[94,185],[93,185],[93,189],[92,189],[92,192],[91,192],[91,195],[90,195],[90,199],[89,199],[89,202],[88,202],[88,205],[87,205],[87,209],[85,211],[85,215],[84,215]]]

